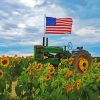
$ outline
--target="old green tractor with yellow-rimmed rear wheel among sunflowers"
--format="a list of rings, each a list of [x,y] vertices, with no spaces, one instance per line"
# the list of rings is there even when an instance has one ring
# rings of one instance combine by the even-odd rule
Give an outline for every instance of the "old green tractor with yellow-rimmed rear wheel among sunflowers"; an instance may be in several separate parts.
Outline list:
[[[45,43],[46,40],[46,43]],[[43,37],[43,45],[34,46],[34,59],[42,63],[51,63],[54,66],[58,66],[62,59],[69,59],[73,57],[73,67],[79,73],[86,72],[91,66],[92,57],[91,54],[84,50],[83,47],[77,47],[72,52],[66,50],[72,49],[72,43],[69,42],[67,46],[48,46],[48,38]]]

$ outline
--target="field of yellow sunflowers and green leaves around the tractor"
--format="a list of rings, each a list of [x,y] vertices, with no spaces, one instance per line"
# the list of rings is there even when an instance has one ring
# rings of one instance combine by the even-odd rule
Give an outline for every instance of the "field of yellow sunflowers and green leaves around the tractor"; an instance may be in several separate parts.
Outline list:
[[[100,100],[100,62],[76,73],[69,59],[58,66],[32,56],[0,57],[0,100]]]

